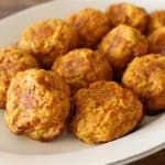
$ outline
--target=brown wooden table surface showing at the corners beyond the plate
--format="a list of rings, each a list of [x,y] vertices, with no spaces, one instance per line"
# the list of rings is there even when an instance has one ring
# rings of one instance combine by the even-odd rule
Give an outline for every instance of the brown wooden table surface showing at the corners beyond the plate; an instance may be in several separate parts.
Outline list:
[[[46,0],[0,0],[0,18],[42,2]],[[130,165],[165,165],[165,150]]]

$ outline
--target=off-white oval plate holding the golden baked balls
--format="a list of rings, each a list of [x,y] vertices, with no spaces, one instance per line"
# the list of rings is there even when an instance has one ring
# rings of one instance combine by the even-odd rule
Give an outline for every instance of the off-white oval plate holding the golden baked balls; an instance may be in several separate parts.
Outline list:
[[[118,0],[119,1],[119,0]],[[164,0],[129,0],[148,11],[165,8]],[[44,18],[66,18],[85,7],[105,9],[117,0],[59,0],[41,4],[0,21],[0,46],[16,42],[20,32]],[[9,132],[0,112],[1,165],[102,165],[125,164],[165,147],[165,114],[147,117],[140,129],[129,135],[102,145],[87,145],[68,133],[57,141],[41,143]]]

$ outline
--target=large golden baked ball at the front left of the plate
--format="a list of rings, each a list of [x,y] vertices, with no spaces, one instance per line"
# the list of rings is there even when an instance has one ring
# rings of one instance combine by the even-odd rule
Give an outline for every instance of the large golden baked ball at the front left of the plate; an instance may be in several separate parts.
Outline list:
[[[15,134],[52,141],[63,132],[69,107],[69,88],[57,74],[29,69],[11,80],[6,122]]]

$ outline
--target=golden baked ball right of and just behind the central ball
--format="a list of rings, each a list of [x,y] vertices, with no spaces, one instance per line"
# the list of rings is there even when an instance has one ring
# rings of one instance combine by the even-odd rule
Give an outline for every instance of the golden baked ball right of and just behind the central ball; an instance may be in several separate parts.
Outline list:
[[[119,75],[135,56],[147,53],[147,40],[136,29],[120,24],[101,41],[99,51],[105,54]]]

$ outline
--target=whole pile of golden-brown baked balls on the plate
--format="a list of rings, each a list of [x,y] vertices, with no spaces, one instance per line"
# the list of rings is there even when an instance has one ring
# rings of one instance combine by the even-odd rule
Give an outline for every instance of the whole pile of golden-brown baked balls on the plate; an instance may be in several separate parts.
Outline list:
[[[117,3],[36,22],[0,50],[7,125],[43,142],[66,128],[94,144],[123,136],[165,110],[164,54],[164,10]]]

